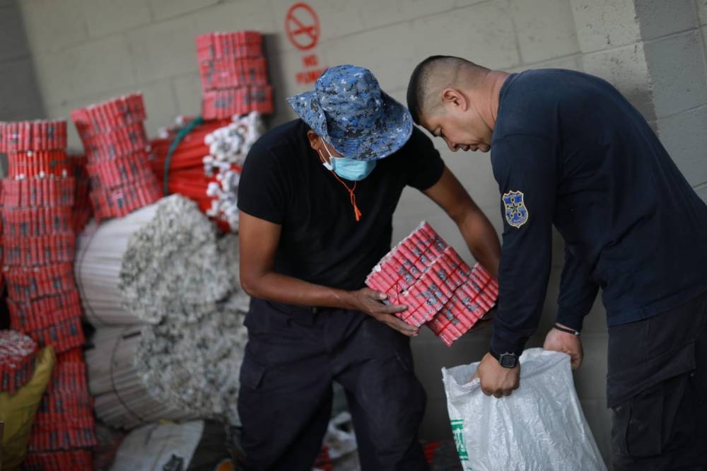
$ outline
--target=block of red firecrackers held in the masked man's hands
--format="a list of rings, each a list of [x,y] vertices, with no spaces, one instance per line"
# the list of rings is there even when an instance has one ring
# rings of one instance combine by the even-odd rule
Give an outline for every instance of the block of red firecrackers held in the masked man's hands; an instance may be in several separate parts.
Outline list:
[[[469,331],[496,304],[498,282],[480,264],[461,259],[423,222],[378,262],[366,278],[387,302],[408,308],[397,316],[427,325],[447,346]]]

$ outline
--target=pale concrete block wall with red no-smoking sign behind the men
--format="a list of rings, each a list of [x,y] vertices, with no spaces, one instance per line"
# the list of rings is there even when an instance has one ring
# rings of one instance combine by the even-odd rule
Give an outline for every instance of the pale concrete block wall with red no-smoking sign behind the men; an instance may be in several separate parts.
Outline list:
[[[0,0],[0,8],[6,3]],[[152,135],[176,115],[199,112],[194,36],[214,30],[250,29],[266,35],[276,96],[272,125],[294,116],[286,96],[312,88],[298,80],[303,72],[347,62],[373,70],[385,91],[403,103],[411,69],[431,54],[459,55],[507,71],[542,67],[587,71],[614,83],[641,110],[691,183],[707,196],[703,163],[707,0],[308,0],[320,21],[319,40],[308,51],[298,50],[285,32],[286,12],[295,3],[23,0],[29,42],[24,57],[31,53],[50,117],[67,117],[75,107],[141,90]],[[0,77],[1,61],[0,50]],[[671,74],[671,69],[676,70]],[[78,146],[75,134],[71,144]],[[442,141],[435,144],[501,231],[489,156],[454,154]],[[471,260],[454,224],[416,191],[404,192],[394,239],[406,236],[421,219],[430,221]],[[542,344],[554,320],[562,264],[562,244],[556,238],[544,316],[529,346]],[[451,348],[428,332],[414,340],[417,371],[429,395],[421,436],[450,436],[440,368],[479,360],[489,333],[468,335]],[[575,374],[576,385],[600,450],[608,456],[607,338],[598,301],[585,322],[583,342],[585,364]]]

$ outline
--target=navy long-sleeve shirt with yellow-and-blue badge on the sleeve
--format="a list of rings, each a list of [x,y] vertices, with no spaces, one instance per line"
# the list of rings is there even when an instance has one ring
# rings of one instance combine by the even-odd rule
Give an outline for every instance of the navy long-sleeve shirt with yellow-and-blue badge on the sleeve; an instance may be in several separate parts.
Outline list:
[[[559,69],[510,75],[491,162],[504,220],[493,351],[520,354],[537,329],[553,224],[565,241],[557,322],[580,330],[600,287],[609,326],[707,290],[707,207],[606,81]]]

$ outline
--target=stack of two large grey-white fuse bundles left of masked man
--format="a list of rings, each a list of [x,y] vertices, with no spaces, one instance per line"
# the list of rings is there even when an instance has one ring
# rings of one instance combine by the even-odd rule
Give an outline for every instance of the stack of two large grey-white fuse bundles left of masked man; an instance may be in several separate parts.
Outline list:
[[[196,417],[238,424],[250,301],[238,279],[238,236],[218,238],[196,203],[173,195],[92,228],[79,247],[86,314],[99,327],[86,353],[98,417],[127,429]]]

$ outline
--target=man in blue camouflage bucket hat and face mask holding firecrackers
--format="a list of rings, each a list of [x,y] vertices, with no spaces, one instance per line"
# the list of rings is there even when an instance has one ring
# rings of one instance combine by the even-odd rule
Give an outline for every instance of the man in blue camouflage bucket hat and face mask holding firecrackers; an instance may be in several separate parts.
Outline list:
[[[426,396],[416,327],[364,279],[390,250],[392,214],[415,187],[493,274],[491,223],[411,115],[367,69],[328,69],[288,99],[300,119],[252,147],[238,190],[240,277],[252,296],[238,410],[247,469],[310,470],[346,390],[364,471],[428,469],[417,438]]]

